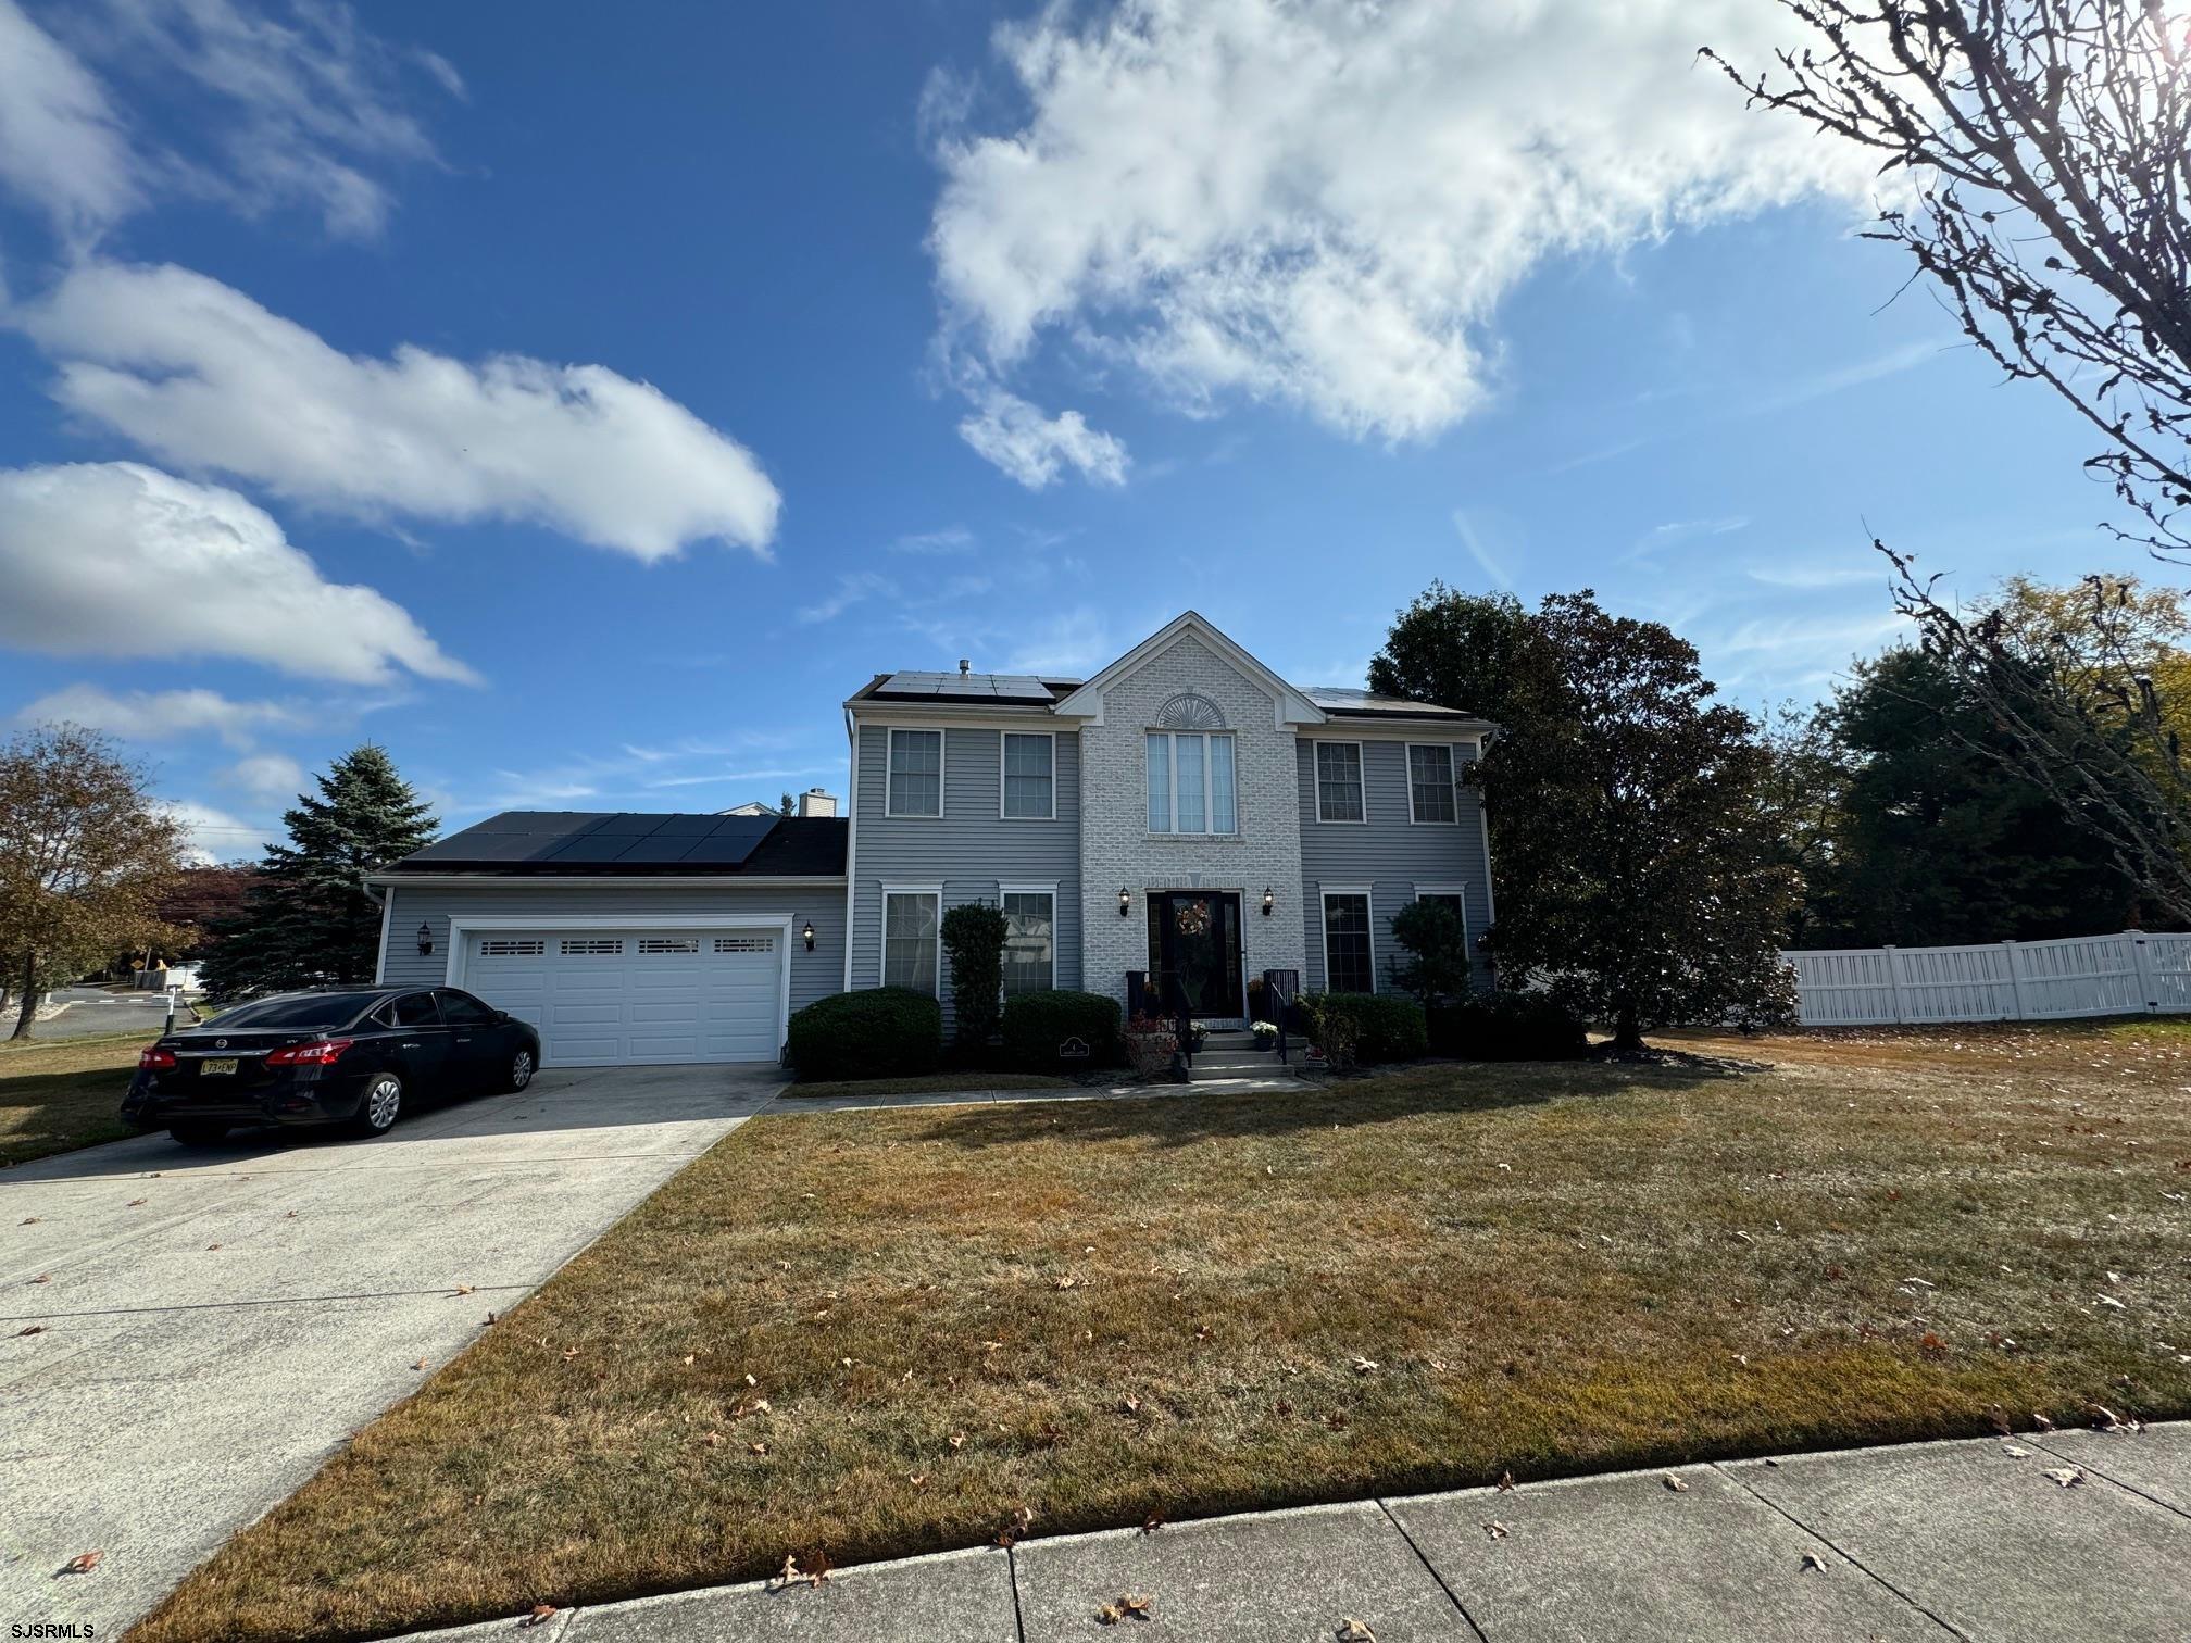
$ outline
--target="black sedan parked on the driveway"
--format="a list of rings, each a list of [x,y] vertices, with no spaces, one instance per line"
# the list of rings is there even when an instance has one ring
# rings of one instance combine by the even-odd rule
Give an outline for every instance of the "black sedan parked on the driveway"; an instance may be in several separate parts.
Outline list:
[[[283,992],[145,1049],[123,1122],[184,1146],[241,1124],[386,1135],[405,1100],[524,1089],[539,1060],[532,1027],[456,988]]]

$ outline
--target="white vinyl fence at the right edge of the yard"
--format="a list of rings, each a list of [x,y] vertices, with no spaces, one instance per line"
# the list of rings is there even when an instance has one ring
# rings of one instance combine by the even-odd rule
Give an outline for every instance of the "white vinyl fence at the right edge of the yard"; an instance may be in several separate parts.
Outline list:
[[[2055,1021],[2191,1010],[2191,935],[1781,953],[1805,1027]]]

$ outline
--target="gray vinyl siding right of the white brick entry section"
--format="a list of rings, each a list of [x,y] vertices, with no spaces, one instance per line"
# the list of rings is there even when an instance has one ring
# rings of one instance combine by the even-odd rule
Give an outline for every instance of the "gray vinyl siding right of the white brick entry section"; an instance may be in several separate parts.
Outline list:
[[[1345,740],[1345,736],[1326,736]],[[1424,743],[1439,738],[1424,736]],[[1409,819],[1407,745],[1363,740],[1363,802],[1367,822],[1317,822],[1317,745],[1301,740],[1301,907],[1308,914],[1308,968],[1304,986],[1323,988],[1323,885],[1369,885],[1369,946],[1378,992],[1391,990],[1391,966],[1402,957],[1391,938],[1391,916],[1415,898],[1415,885],[1461,885],[1468,940],[1490,924],[1490,883],[1483,874],[1483,806],[1461,789],[1459,826]],[[1472,749],[1455,749],[1459,767]],[[1475,955],[1477,984],[1490,986],[1483,955]]]

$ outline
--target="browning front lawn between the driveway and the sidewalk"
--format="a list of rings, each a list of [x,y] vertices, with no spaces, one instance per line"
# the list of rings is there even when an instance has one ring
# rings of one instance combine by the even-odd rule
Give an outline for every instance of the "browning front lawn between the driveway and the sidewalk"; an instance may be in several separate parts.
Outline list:
[[[979,1544],[1021,1507],[1041,1536],[2184,1415],[2180,1043],[769,1115],[136,1636],[508,1617]]]

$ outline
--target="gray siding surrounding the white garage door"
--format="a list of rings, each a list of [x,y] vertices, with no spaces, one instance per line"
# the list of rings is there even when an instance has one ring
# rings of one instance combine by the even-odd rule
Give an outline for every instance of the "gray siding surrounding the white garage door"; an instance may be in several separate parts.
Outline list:
[[[666,878],[640,885],[392,885],[388,896],[388,951],[381,979],[388,986],[440,986],[449,979],[449,916],[532,918],[554,929],[559,918],[629,916],[635,927],[649,918],[714,916],[791,920],[791,1008],[813,1003],[844,986],[844,885],[725,885],[692,887]],[[815,951],[806,951],[800,927],[813,920]],[[434,931],[432,957],[418,953],[418,924]]]

